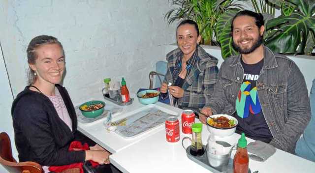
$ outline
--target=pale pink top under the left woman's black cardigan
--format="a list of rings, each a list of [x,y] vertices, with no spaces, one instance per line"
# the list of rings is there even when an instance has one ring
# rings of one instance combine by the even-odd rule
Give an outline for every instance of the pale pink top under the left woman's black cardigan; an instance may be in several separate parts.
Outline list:
[[[63,122],[72,131],[72,121],[71,121],[70,115],[68,113],[67,108],[65,107],[64,102],[63,102],[63,97],[60,95],[60,92],[57,89],[57,87],[55,87],[55,95],[54,96],[48,96],[48,98],[53,103],[60,119],[62,119]],[[49,167],[43,166],[42,168],[43,168],[45,173],[49,173],[49,170],[48,170]]]

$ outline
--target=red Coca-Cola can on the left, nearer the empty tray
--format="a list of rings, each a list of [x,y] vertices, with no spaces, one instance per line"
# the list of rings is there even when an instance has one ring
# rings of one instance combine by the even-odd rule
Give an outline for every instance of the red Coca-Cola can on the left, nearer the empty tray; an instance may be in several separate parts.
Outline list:
[[[179,120],[175,116],[170,116],[165,121],[166,141],[175,143],[179,141]]]

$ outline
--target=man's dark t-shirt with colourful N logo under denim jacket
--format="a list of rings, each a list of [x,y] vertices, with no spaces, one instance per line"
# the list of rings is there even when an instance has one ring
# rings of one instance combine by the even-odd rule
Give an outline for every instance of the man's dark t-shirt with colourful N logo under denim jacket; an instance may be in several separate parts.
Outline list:
[[[235,117],[239,121],[237,130],[254,140],[269,143],[273,137],[261,111],[256,88],[263,59],[256,64],[246,64],[241,59],[241,63],[244,76],[235,104]]]

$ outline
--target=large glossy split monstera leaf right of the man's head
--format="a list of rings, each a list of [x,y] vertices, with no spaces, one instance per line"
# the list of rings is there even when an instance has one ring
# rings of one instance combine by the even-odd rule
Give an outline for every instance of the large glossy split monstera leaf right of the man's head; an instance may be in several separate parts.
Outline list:
[[[314,41],[309,38],[315,40],[315,0],[285,1],[296,5],[296,8],[289,16],[281,15],[268,21],[267,31],[272,34],[266,37],[265,44],[275,52],[304,54],[306,48],[315,47]]]

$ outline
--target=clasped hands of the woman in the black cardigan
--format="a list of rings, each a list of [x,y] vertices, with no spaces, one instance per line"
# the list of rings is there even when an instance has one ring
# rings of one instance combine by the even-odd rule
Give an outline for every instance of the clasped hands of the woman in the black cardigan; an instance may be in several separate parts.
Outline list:
[[[106,150],[85,150],[85,160],[93,160],[100,165],[109,164],[109,153]]]

